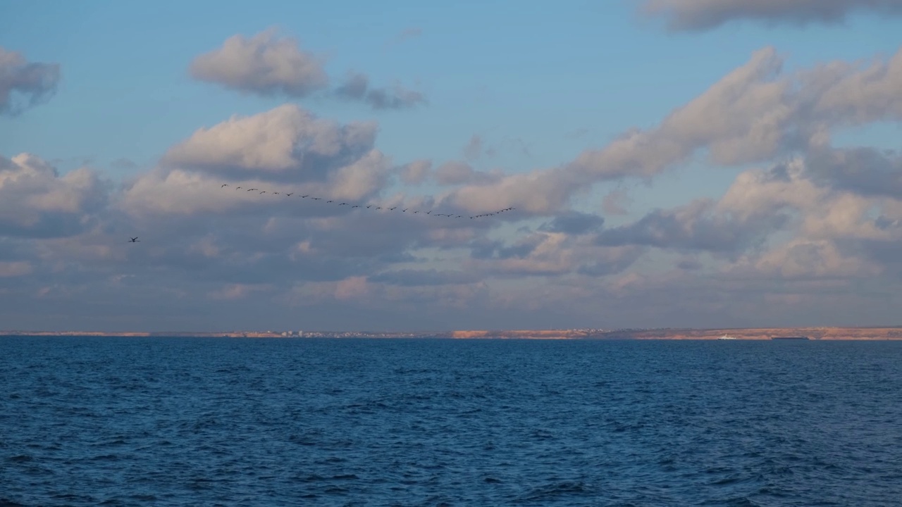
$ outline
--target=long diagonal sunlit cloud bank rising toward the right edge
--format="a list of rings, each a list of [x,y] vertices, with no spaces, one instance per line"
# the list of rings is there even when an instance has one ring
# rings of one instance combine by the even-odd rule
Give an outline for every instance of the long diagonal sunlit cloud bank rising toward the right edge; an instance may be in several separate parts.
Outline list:
[[[649,179],[705,151],[713,165],[769,161],[828,141],[837,126],[902,119],[902,48],[867,68],[831,62],[781,76],[773,48],[721,78],[658,126],[632,129],[569,164],[583,184]],[[579,186],[577,185],[576,188]]]

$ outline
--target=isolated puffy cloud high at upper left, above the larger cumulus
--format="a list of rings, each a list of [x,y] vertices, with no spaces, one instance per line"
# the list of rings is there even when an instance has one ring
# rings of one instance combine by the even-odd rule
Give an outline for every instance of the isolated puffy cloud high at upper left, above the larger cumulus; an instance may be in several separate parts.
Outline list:
[[[307,97],[328,84],[323,60],[274,29],[251,38],[229,37],[219,49],[192,60],[189,72],[202,81],[266,97]]]

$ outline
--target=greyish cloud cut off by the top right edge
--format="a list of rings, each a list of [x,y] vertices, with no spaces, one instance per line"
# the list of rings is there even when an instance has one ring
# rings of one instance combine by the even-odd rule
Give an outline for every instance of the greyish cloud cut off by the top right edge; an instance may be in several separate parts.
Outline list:
[[[674,32],[701,32],[724,23],[754,20],[763,23],[843,23],[854,13],[883,16],[902,14],[898,0],[645,0],[640,12],[667,18]]]

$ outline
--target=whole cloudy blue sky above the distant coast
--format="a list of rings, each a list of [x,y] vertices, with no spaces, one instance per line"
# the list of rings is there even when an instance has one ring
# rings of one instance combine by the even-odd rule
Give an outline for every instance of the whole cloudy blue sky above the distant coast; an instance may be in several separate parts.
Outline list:
[[[900,32],[902,0],[0,0],[0,328],[902,325]]]

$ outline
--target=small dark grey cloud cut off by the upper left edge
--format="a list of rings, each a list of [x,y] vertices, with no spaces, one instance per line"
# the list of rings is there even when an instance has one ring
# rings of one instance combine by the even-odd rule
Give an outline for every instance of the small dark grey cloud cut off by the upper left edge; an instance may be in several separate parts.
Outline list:
[[[20,115],[46,102],[60,84],[60,64],[29,63],[0,47],[0,115]]]

